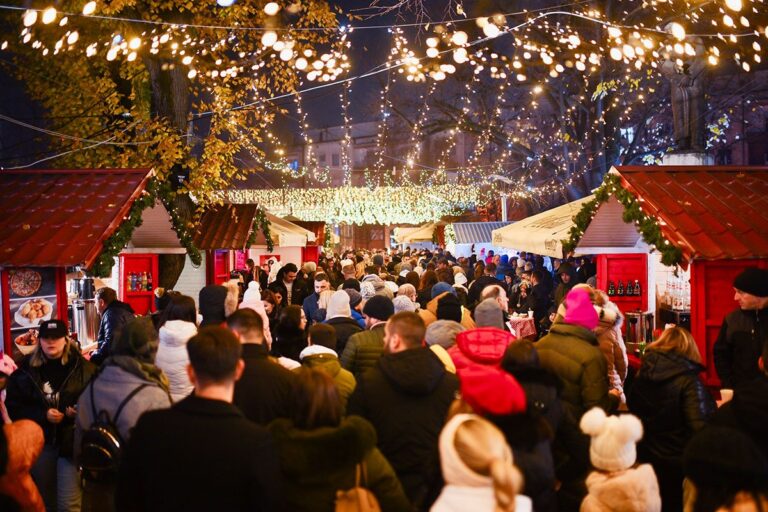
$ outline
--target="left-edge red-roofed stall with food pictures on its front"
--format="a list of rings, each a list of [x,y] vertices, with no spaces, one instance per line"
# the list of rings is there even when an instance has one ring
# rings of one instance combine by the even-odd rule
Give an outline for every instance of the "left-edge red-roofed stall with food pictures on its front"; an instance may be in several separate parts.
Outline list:
[[[150,174],[148,169],[0,172],[0,320],[6,352],[28,353],[30,329],[67,318],[66,268],[97,262]]]

